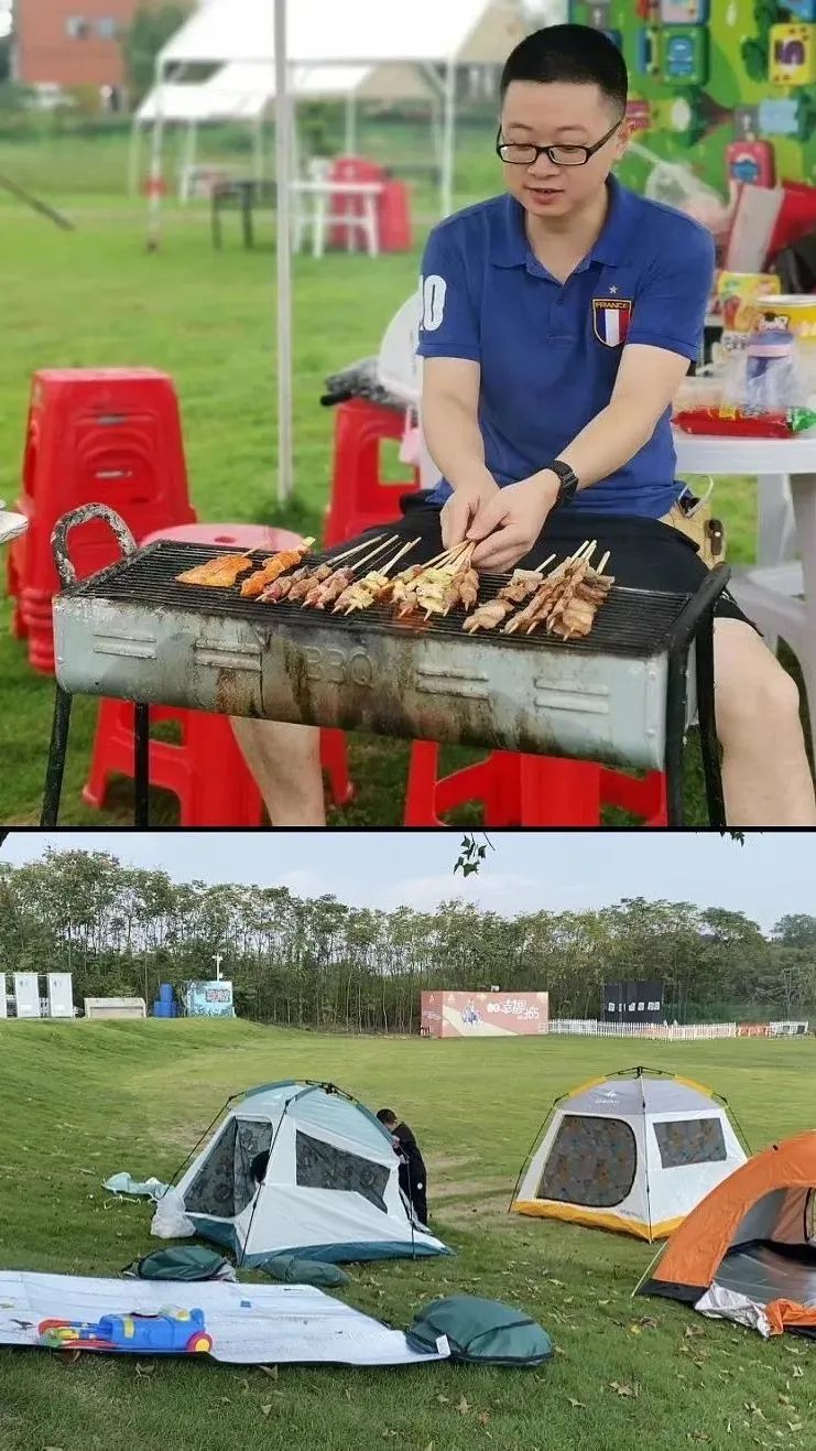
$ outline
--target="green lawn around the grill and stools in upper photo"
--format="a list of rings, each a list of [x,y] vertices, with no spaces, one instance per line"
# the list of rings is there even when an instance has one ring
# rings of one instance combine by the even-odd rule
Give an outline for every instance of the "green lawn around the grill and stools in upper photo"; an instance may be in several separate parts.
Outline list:
[[[404,139],[404,138],[403,138]],[[386,142],[374,135],[374,149]],[[406,144],[407,145],[407,144]],[[94,147],[97,149],[94,149]],[[496,186],[490,138],[465,132],[457,205]],[[422,152],[419,152],[422,154]],[[94,170],[94,158],[97,161]],[[0,498],[13,502],[20,473],[29,380],[38,367],[149,364],[172,374],[183,411],[191,496],[201,519],[290,524],[320,531],[328,501],[332,414],[319,406],[330,371],[370,355],[412,292],[422,238],[433,221],[433,196],[416,199],[416,251],[367,258],[301,257],[294,267],[296,499],[275,501],[274,250],[271,221],[259,226],[255,252],[242,251],[236,219],[213,252],[206,207],[168,206],[164,247],[143,247],[143,205],[122,190],[120,142],[46,147],[0,145],[0,171],[62,206],[75,232],[12,203],[0,192],[3,231],[3,364],[0,367]],[[754,557],[754,489],[725,480],[716,492],[728,522],[730,557]],[[52,686],[28,665],[25,644],[9,636],[10,605],[0,599],[0,821],[39,820]],[[104,813],[81,802],[96,704],[77,702],[62,823],[128,824],[132,791],[115,785]],[[335,824],[399,826],[409,747],[355,737],[355,802]],[[690,743],[687,820],[703,824],[703,795]],[[461,762],[462,752],[452,752]],[[158,797],[154,820],[177,821],[172,798]],[[468,820],[465,817],[465,820]]]

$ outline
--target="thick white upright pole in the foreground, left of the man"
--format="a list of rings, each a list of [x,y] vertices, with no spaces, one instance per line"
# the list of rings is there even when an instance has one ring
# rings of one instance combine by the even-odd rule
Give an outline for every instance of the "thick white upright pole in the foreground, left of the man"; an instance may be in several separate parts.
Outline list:
[[[277,351],[278,502],[293,489],[291,438],[291,107],[288,103],[287,0],[275,0],[275,190],[277,190]]]

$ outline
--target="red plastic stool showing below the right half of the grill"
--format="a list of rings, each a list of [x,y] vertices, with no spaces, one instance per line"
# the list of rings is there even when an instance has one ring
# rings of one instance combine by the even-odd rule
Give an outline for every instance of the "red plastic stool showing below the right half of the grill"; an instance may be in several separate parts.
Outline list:
[[[446,811],[474,801],[484,808],[486,827],[597,827],[604,805],[632,811],[646,826],[667,824],[662,772],[635,781],[591,762],[499,750],[439,776],[439,746],[413,743],[404,826],[444,826]]]

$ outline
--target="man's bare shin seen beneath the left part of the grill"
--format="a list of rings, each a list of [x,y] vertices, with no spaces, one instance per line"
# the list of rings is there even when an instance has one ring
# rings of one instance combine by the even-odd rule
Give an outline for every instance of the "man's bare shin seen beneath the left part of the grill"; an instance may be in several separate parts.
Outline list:
[[[272,826],[326,826],[320,731],[239,718],[232,728]]]

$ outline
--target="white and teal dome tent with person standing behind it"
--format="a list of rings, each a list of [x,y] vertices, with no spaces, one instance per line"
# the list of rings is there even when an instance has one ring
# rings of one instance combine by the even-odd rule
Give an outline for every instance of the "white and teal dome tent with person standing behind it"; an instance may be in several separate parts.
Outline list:
[[[197,1233],[249,1267],[278,1254],[329,1262],[448,1254],[401,1194],[391,1136],[332,1084],[249,1090],[174,1200]]]

